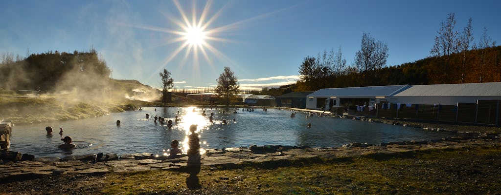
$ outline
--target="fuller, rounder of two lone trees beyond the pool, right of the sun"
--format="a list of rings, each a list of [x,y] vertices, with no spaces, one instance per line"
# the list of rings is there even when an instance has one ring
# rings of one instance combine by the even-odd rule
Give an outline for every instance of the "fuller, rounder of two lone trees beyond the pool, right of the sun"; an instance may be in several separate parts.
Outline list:
[[[224,67],[224,72],[219,75],[216,79],[217,86],[214,92],[222,99],[226,105],[229,105],[230,99],[238,94],[239,84],[238,78],[234,75],[233,71],[229,67]]]

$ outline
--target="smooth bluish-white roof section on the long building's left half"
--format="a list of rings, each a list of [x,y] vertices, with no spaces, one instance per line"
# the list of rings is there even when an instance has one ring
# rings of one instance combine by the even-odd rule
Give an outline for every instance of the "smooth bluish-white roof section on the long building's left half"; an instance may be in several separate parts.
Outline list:
[[[375,97],[375,96],[391,96],[398,93],[409,85],[388,85],[388,86],[371,86],[371,87],[344,87],[344,88],[328,88],[320,89],[308,95],[308,97]]]

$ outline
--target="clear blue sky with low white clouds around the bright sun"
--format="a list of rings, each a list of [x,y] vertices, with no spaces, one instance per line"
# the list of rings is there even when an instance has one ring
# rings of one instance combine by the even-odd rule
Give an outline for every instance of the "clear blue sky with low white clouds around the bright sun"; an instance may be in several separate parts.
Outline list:
[[[174,88],[212,87],[228,66],[241,88],[259,89],[294,83],[303,58],[324,49],[341,47],[351,64],[364,32],[388,44],[387,66],[425,58],[451,12],[456,30],[473,19],[475,42],[486,27],[501,43],[499,7],[498,0],[3,0],[0,52],[93,45],[115,79],[160,87],[165,68]],[[183,15],[207,24],[205,44],[183,47]]]

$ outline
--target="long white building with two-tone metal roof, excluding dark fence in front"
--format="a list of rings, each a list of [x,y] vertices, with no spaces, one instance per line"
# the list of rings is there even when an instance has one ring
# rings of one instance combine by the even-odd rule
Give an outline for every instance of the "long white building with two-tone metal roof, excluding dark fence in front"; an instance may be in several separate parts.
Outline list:
[[[501,82],[441,85],[390,85],[320,89],[307,96],[306,108],[374,106],[376,103],[456,105],[501,100]]]

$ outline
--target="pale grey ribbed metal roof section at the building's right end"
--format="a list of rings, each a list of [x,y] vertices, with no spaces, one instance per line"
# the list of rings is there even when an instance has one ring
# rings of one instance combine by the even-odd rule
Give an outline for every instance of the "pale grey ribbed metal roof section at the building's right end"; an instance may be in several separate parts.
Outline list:
[[[402,96],[501,96],[501,82],[412,85],[394,95]]]

